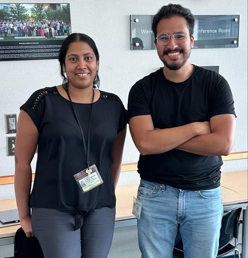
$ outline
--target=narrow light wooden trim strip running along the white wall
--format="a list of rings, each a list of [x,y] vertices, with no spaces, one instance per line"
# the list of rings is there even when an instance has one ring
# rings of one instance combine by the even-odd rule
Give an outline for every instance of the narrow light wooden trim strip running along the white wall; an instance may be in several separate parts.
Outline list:
[[[235,160],[235,159],[247,159],[248,152],[232,152],[227,156],[222,156],[223,161]],[[137,170],[137,162],[134,163],[124,163],[122,164],[122,172],[126,171],[135,171]],[[32,174],[32,181],[34,180],[34,173]],[[11,184],[14,183],[14,175],[10,176],[0,176],[0,185],[1,184]]]

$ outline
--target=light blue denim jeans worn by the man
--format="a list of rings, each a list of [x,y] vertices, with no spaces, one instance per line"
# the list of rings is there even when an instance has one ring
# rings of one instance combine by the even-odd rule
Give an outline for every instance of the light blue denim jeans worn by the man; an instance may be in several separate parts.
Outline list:
[[[178,230],[185,258],[216,258],[223,215],[220,187],[189,191],[141,180],[138,200],[142,258],[172,258]]]

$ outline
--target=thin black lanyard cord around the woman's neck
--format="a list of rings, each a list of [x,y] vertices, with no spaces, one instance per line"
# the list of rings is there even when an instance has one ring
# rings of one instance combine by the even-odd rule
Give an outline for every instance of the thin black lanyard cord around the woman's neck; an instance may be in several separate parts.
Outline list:
[[[66,85],[66,86],[67,86],[67,85]],[[72,99],[71,99],[71,96],[70,96],[70,94],[69,94],[69,91],[68,91],[68,88],[67,88],[67,87],[65,87],[65,91],[66,91],[67,96],[68,96],[68,98],[69,98],[69,100],[70,100],[70,102],[71,102],[74,115],[75,115],[75,117],[76,117],[76,120],[77,120],[77,122],[78,122],[78,126],[79,126],[80,131],[81,131],[81,136],[82,136],[82,139],[83,139],[83,147],[84,147],[84,151],[85,151],[85,155],[86,155],[86,159],[87,159],[87,160],[86,160],[86,163],[87,163],[87,167],[88,167],[88,169],[89,169],[89,167],[90,167],[90,160],[89,160],[89,158],[90,158],[91,124],[92,124],[93,101],[94,101],[94,94],[95,94],[95,92],[94,92],[94,89],[93,89],[92,106],[91,106],[91,120],[90,120],[89,130],[88,130],[88,147],[86,148],[86,143],[85,143],[85,138],[84,138],[84,134],[83,134],[83,129],[82,129],[80,123],[79,123],[78,115],[77,115],[76,110],[75,110],[75,108],[74,108],[74,106],[73,106]]]

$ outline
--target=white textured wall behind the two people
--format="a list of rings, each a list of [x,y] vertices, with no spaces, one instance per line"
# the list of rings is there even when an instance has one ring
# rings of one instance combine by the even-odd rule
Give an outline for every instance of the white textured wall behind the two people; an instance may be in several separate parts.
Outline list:
[[[0,3],[39,3],[39,0],[0,0]],[[118,94],[127,105],[131,86],[141,77],[162,66],[156,50],[130,50],[130,15],[154,15],[171,1],[164,0],[73,0],[70,2],[72,32],[91,36],[100,53],[100,89]],[[232,152],[247,151],[247,1],[244,0],[178,0],[194,15],[240,15],[239,47],[193,49],[190,61],[199,66],[219,65],[233,91],[237,114],[237,133]],[[0,62],[0,175],[14,174],[14,157],[7,156],[4,114],[19,114],[21,106],[39,88],[59,85],[57,60]],[[136,162],[138,152],[127,135],[123,163]],[[34,171],[35,159],[32,162]],[[247,168],[247,160],[225,162],[223,171]],[[120,184],[137,182],[137,172],[123,173]],[[14,197],[12,185],[0,187],[0,198]]]

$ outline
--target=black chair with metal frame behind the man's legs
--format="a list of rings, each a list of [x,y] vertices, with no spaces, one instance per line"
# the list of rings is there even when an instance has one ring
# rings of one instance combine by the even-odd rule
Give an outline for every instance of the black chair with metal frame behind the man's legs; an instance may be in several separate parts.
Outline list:
[[[219,236],[218,257],[222,257],[234,251],[234,258],[236,254],[240,257],[240,251],[237,249],[239,225],[242,221],[239,220],[242,208],[236,208],[223,213],[221,221],[221,229]],[[231,242],[234,239],[234,245]],[[184,258],[183,241],[180,239],[174,245],[173,258]]]

